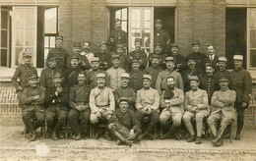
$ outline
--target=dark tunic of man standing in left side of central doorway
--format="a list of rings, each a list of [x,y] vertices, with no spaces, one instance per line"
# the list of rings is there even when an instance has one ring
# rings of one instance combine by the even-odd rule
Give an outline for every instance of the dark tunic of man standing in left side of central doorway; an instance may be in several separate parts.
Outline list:
[[[128,44],[128,36],[127,32],[120,29],[113,29],[110,33],[108,44],[111,46],[110,51],[115,52],[116,51],[116,45],[118,43],[122,43],[127,45]]]

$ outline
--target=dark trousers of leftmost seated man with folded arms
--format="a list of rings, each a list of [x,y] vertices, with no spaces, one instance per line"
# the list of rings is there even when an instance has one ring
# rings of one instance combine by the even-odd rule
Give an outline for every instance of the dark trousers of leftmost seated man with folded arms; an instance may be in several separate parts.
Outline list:
[[[36,129],[41,127],[44,122],[44,111],[38,111],[36,108],[30,110],[24,109],[22,118],[29,131],[36,131]]]

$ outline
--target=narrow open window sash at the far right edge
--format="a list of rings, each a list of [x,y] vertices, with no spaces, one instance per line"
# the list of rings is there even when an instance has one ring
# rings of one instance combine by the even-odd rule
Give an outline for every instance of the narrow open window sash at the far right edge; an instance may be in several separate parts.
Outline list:
[[[247,68],[256,70],[256,9],[247,9]]]

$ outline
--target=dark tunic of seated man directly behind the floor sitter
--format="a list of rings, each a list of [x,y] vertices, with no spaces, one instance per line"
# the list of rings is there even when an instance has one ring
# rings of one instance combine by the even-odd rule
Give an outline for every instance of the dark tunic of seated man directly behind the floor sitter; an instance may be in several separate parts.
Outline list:
[[[134,89],[129,86],[120,86],[114,91],[114,99],[115,103],[117,104],[119,98],[127,97],[129,109],[134,110],[134,103],[135,103],[135,92]]]

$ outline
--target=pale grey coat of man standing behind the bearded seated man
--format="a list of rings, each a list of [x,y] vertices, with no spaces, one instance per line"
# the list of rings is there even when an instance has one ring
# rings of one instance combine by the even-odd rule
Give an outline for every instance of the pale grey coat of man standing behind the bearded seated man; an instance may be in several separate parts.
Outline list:
[[[184,90],[183,80],[181,78],[181,75],[176,71],[170,72],[168,70],[164,70],[160,72],[158,76],[158,80],[156,82],[156,89],[159,91],[160,94],[163,90],[167,89],[166,78],[170,76],[175,79],[175,86],[180,88],[181,90]]]

